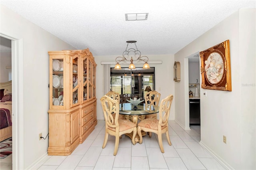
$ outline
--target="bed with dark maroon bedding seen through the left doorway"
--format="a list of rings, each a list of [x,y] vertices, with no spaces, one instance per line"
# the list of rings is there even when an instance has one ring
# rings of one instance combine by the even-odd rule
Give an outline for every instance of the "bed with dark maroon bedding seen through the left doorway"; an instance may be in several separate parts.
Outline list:
[[[12,137],[12,81],[0,83],[0,141]]]

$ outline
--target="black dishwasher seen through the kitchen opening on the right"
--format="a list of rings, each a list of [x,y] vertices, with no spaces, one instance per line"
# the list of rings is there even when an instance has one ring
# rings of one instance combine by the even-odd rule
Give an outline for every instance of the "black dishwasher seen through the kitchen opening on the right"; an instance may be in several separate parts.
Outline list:
[[[200,125],[200,99],[189,99],[189,125]]]

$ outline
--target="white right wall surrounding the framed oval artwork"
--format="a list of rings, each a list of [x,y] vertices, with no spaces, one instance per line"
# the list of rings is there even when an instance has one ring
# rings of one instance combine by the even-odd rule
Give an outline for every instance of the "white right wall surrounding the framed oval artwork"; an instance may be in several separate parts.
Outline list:
[[[182,81],[175,84],[175,93],[181,94],[176,95],[175,120],[185,127],[188,108],[186,95],[182,95],[188,79],[185,57],[230,40],[232,91],[200,89],[201,144],[230,169],[256,168],[255,16],[255,9],[241,9],[174,55],[182,70]],[[226,144],[222,142],[223,135],[227,137]]]

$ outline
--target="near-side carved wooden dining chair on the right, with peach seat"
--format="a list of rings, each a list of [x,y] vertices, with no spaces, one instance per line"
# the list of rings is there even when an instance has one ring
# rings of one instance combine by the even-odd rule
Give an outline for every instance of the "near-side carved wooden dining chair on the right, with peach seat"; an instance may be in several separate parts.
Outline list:
[[[162,99],[159,106],[159,119],[148,118],[141,120],[138,123],[138,135],[140,136],[139,143],[142,143],[142,134],[141,131],[144,132],[153,132],[158,135],[158,143],[160,146],[160,150],[164,153],[164,147],[162,142],[162,133],[166,134],[166,138],[168,140],[168,144],[172,145],[168,132],[168,118],[170,115],[170,108],[172,104],[173,95],[168,95],[165,99]]]

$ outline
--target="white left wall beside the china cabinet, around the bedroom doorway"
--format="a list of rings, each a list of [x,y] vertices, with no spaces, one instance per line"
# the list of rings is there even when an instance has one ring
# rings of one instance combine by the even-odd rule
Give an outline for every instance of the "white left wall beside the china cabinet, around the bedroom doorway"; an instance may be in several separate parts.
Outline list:
[[[48,134],[49,109],[49,55],[48,51],[75,49],[56,38],[39,26],[1,5],[0,33],[23,41],[24,77],[19,77],[24,84],[24,167],[28,168],[42,155],[47,154],[48,138],[38,140],[38,134]],[[14,66],[13,66],[14,67]],[[20,73],[22,75],[22,73]]]

